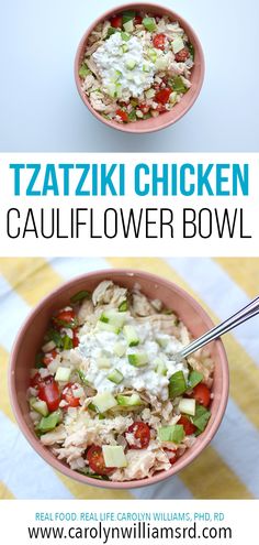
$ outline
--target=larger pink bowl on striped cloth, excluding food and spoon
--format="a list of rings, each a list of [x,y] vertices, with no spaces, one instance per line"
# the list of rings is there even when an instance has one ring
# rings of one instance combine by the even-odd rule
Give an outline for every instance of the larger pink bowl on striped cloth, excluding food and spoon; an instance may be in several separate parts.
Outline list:
[[[227,358],[221,340],[217,340],[211,345],[212,356],[215,361],[213,383],[214,396],[211,407],[212,417],[205,432],[196,438],[193,447],[188,449],[169,471],[162,471],[145,480],[110,482],[98,481],[71,470],[65,462],[55,458],[55,456],[41,444],[34,434],[26,402],[26,390],[30,383],[30,370],[32,368],[32,362],[35,360],[35,355],[38,351],[38,347],[42,345],[42,339],[54,310],[65,306],[75,293],[81,290],[92,291],[101,281],[105,279],[111,279],[114,283],[128,288],[132,288],[137,282],[140,285],[142,291],[148,297],[159,298],[169,308],[176,310],[178,316],[184,321],[194,337],[199,337],[213,326],[213,323],[207,314],[187,292],[178,287],[176,284],[160,279],[159,276],[140,271],[126,271],[120,269],[85,274],[83,276],[79,276],[63,284],[45,297],[34,308],[21,328],[14,342],[10,361],[9,386],[11,402],[18,424],[29,443],[36,450],[36,453],[42,456],[42,458],[44,458],[55,469],[65,473],[67,477],[86,484],[109,489],[146,487],[172,477],[178,471],[182,470],[192,460],[194,460],[194,458],[196,458],[196,456],[199,456],[212,440],[223,418],[228,399]]]

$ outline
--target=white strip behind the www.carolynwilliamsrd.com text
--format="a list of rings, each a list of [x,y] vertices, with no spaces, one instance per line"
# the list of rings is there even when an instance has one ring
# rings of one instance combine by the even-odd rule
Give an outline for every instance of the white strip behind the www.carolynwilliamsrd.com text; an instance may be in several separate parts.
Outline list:
[[[2,514],[2,522],[1,522],[1,528],[0,528],[0,536],[3,538],[4,543],[15,543],[19,542],[20,545],[27,545],[31,543],[32,545],[37,543],[37,544],[44,544],[47,542],[47,539],[32,539],[29,542],[29,533],[27,533],[27,526],[38,526],[38,527],[61,527],[64,526],[66,531],[68,531],[69,527],[98,527],[99,522],[79,522],[76,520],[75,522],[35,522],[35,513],[48,513],[53,516],[55,520],[56,514],[66,514],[66,513],[75,513],[77,517],[80,519],[80,514],[82,513],[156,513],[156,512],[164,512],[164,513],[190,513],[191,517],[194,519],[194,514],[200,514],[205,515],[209,514],[211,515],[211,521],[206,522],[198,522],[199,524],[199,533],[202,531],[202,528],[206,527],[230,527],[232,528],[232,541],[230,539],[222,539],[219,538],[199,538],[196,539],[198,543],[202,544],[213,544],[213,545],[222,545],[223,543],[232,543],[232,545],[244,545],[244,543],[250,543],[251,545],[255,545],[255,541],[250,541],[249,538],[251,536],[255,536],[258,534],[257,531],[257,520],[258,520],[258,503],[259,500],[254,500],[254,501],[239,501],[234,502],[234,501],[222,501],[222,500],[210,500],[210,501],[195,501],[193,502],[192,500],[184,500],[184,501],[173,501],[171,504],[169,504],[168,500],[156,500],[154,502],[153,500],[145,500],[145,508],[143,505],[142,501],[135,500],[134,502],[124,500],[122,501],[77,501],[75,503],[74,501],[16,501],[15,506],[15,519],[14,519],[14,511],[13,511],[13,503],[10,501],[2,501],[0,505],[0,514]],[[215,522],[214,521],[214,513],[224,513],[225,520],[223,522]],[[99,519],[99,516],[98,516]],[[58,519],[57,519],[58,520]],[[14,524],[13,524],[14,523]],[[125,527],[132,526],[134,523],[133,522],[103,522],[103,526],[108,530],[110,526],[119,526],[119,527]],[[187,522],[150,522],[150,526],[158,526],[158,527],[190,527],[193,524],[193,522],[187,523]],[[170,535],[170,534],[169,534]],[[67,536],[68,537],[68,536]],[[97,545],[102,545],[103,539],[75,539],[75,538],[66,538],[66,539],[49,539],[48,543],[55,543],[55,544],[64,544],[64,542],[69,545],[69,544],[75,544],[75,543],[88,543],[90,544],[97,544]],[[170,543],[170,537],[166,541],[165,543]],[[173,539],[174,542],[174,539]],[[177,539],[177,543],[179,539]],[[108,539],[108,545],[111,545],[113,541],[111,538]],[[125,538],[123,539],[123,543],[125,545],[131,545],[133,543],[132,539]],[[159,539],[154,539],[150,538],[149,541],[146,538],[145,541],[140,542],[139,539],[136,539],[135,543],[139,544],[149,544],[149,545],[158,545]],[[193,538],[189,538],[185,536],[185,538],[181,539],[180,542],[182,545],[192,545],[193,544]]]

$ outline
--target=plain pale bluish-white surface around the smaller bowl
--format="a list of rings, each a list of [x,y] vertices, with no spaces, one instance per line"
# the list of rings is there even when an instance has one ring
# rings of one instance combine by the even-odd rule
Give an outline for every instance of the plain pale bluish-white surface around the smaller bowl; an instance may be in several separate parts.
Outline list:
[[[0,0],[0,151],[258,151],[258,0],[165,0],[206,58],[199,101],[150,135],[97,121],[74,83],[81,35],[120,0]]]

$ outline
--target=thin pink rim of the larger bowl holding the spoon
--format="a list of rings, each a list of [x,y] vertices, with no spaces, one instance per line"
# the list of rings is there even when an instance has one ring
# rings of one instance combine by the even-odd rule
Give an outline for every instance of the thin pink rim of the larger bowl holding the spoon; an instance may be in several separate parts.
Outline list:
[[[36,316],[38,313],[41,313],[42,308],[45,306],[47,302],[49,302],[54,296],[57,296],[58,293],[63,293],[64,290],[69,288],[74,284],[77,284],[80,281],[88,280],[89,277],[95,277],[97,282],[100,281],[101,279],[104,280],[106,276],[110,275],[125,275],[125,276],[142,276],[143,280],[145,281],[148,280],[150,282],[154,282],[155,284],[164,284],[167,290],[172,290],[177,292],[180,296],[182,296],[188,303],[193,307],[194,310],[199,313],[199,315],[202,317],[205,324],[207,324],[207,327],[213,327],[214,324],[209,316],[209,314],[203,309],[203,307],[200,305],[200,303],[196,302],[192,295],[189,294],[182,287],[178,286],[174,282],[171,282],[167,279],[164,279],[162,276],[158,276],[157,274],[153,274],[149,272],[145,272],[143,270],[135,270],[135,269],[104,269],[104,270],[98,270],[98,271],[92,271],[88,272],[86,274],[81,274],[79,276],[75,276],[69,281],[63,282],[55,290],[52,290],[48,295],[46,295],[43,299],[40,301],[40,303],[31,310],[26,319],[24,320],[22,327],[20,328],[14,342],[13,347],[11,350],[10,359],[9,359],[9,370],[8,370],[8,385],[9,385],[9,393],[10,393],[10,400],[11,400],[11,406],[15,416],[15,419],[18,422],[18,425],[20,427],[20,430],[23,433],[24,437],[26,440],[30,443],[30,445],[33,447],[33,449],[36,451],[37,455],[40,455],[45,462],[49,464],[54,469],[58,470],[66,477],[69,477],[76,481],[79,481],[83,484],[92,486],[92,487],[98,487],[98,488],[105,488],[105,489],[111,489],[111,490],[131,490],[135,488],[142,488],[142,487],[147,487],[151,484],[156,484],[158,482],[161,482],[166,479],[171,478],[173,475],[179,473],[182,469],[184,469],[187,466],[189,466],[211,443],[213,437],[215,436],[223,416],[225,414],[226,405],[228,402],[228,392],[229,392],[229,370],[228,370],[228,362],[227,362],[227,355],[224,348],[224,345],[221,339],[214,341],[217,345],[217,349],[219,350],[219,360],[221,360],[221,366],[224,371],[224,378],[225,380],[222,383],[222,392],[221,392],[221,401],[219,405],[216,412],[216,417],[210,427],[210,434],[204,434],[202,437],[202,440],[198,445],[195,451],[190,451],[190,456],[185,459],[179,458],[179,461],[177,466],[172,466],[171,469],[167,471],[161,471],[153,477],[148,477],[147,479],[137,479],[134,481],[123,481],[123,482],[117,482],[117,481],[98,481],[97,479],[91,479],[90,477],[83,476],[79,472],[77,472],[74,469],[70,469],[68,466],[64,465],[60,460],[58,460],[56,457],[50,455],[50,453],[43,446],[41,445],[38,438],[32,434],[27,424],[24,421],[24,416],[21,412],[19,402],[18,402],[18,396],[16,396],[16,391],[15,391],[15,378],[14,378],[14,370],[16,367],[16,358],[19,355],[20,346],[22,344],[23,335],[24,331],[31,326],[34,316]]]

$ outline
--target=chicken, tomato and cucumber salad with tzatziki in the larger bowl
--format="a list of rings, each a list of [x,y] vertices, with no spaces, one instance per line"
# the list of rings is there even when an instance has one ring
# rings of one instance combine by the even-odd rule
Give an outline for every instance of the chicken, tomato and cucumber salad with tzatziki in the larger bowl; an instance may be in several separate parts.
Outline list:
[[[90,479],[125,483],[170,470],[211,418],[207,349],[178,361],[182,320],[136,282],[102,280],[53,313],[26,397],[34,433]]]

